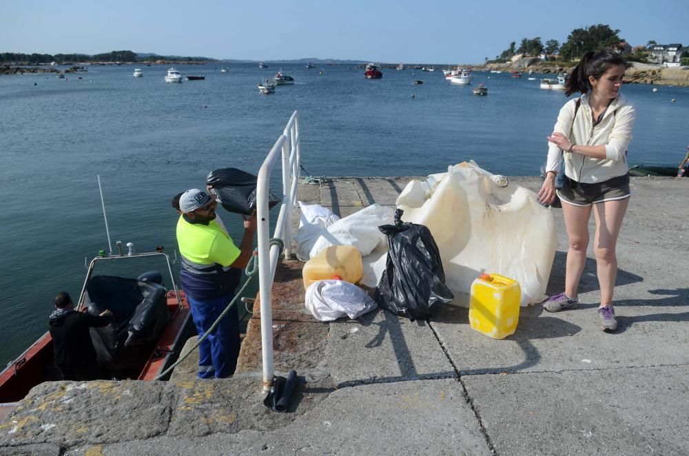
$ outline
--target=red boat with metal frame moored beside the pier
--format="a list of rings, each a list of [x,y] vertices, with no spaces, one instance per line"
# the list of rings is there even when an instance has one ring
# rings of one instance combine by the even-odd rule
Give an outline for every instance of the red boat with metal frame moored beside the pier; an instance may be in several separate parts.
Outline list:
[[[129,253],[106,255],[101,251],[91,261],[75,311],[99,315],[109,309],[114,314],[110,324],[90,331],[98,364],[108,379],[155,380],[174,363],[196,329],[163,246],[146,253],[134,253],[132,243],[127,246]],[[112,273],[136,270],[136,265],[141,268],[142,264],[150,267],[151,260],[163,260],[168,288],[158,271],[138,277],[129,272],[122,276],[95,274],[96,265]],[[48,315],[45,318],[47,322]],[[0,373],[0,405],[13,408],[37,384],[58,380],[61,374],[54,365],[53,342],[47,332]]]

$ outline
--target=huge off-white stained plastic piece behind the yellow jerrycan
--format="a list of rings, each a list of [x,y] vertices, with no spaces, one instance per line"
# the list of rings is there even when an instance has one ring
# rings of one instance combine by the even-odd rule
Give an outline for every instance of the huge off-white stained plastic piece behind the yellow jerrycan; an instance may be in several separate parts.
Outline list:
[[[522,306],[546,297],[557,234],[553,213],[533,191],[515,183],[499,187],[493,174],[473,162],[460,163],[427,185],[412,181],[397,205],[404,210],[402,220],[431,230],[453,304],[469,305],[471,282],[481,273],[517,280]]]

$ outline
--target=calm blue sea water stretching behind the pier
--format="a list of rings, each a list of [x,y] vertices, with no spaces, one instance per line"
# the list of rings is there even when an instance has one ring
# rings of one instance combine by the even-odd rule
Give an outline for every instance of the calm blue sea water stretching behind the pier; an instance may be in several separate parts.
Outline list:
[[[482,97],[442,72],[384,70],[370,81],[360,68],[283,65],[296,84],[263,96],[256,83],[274,65],[182,65],[184,76],[206,76],[182,84],[164,82],[167,67],[141,68],[143,78],[133,66],[0,76],[2,364],[46,331],[58,291],[76,299],[85,258],[107,249],[97,174],[112,242],[172,251],[172,196],[202,188],[212,169],[256,174],[294,110],[313,176],[421,176],[472,158],[494,173],[535,176],[566,101],[526,75],[476,72],[473,85],[489,87]],[[689,89],[652,87],[623,90],[638,112],[629,160],[676,164],[689,141]],[[239,240],[238,217],[222,215]]]

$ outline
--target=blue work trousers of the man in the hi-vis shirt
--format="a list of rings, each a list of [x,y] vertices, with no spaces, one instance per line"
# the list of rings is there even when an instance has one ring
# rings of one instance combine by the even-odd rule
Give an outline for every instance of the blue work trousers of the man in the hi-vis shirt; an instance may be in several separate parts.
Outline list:
[[[187,295],[192,319],[200,338],[223,313],[234,293],[221,298],[197,300]],[[198,346],[198,377],[223,378],[234,373],[239,357],[239,318],[232,306],[216,329]]]

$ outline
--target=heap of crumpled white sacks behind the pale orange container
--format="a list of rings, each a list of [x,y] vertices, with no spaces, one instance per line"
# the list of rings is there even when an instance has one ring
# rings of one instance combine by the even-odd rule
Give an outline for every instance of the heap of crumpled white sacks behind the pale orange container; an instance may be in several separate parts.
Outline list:
[[[386,244],[385,236],[378,227],[393,223],[394,216],[395,209],[392,207],[373,204],[325,227],[322,225],[329,219],[322,216],[314,218],[314,222],[309,223],[311,226],[304,225],[297,230],[297,258],[302,261],[309,260],[331,245],[353,245],[359,249],[362,257],[367,256],[378,245]],[[299,231],[302,231],[301,235]],[[308,257],[305,256],[307,251]]]

